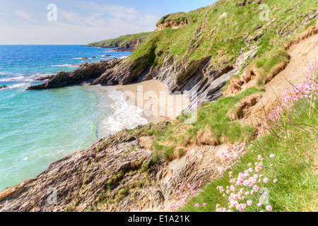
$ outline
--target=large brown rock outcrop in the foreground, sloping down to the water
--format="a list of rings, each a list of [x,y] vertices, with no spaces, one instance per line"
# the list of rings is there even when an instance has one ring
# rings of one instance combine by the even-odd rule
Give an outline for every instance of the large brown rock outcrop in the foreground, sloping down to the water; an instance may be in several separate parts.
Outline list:
[[[180,160],[155,164],[139,126],[100,140],[0,193],[0,211],[150,211],[167,206],[178,184],[196,186],[219,173],[225,146],[195,147]],[[160,209],[164,210],[164,209]]]

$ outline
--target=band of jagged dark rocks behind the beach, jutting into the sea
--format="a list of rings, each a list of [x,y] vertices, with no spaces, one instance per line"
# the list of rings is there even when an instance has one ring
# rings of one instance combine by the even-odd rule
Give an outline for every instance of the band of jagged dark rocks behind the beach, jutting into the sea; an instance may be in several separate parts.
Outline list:
[[[193,91],[195,96],[190,97],[195,109],[197,102],[218,100],[222,95],[222,88],[227,81],[239,73],[247,59],[253,59],[258,48],[242,52],[232,66],[220,64],[220,69],[213,69],[210,57],[199,59],[188,64],[186,60],[179,61],[177,57],[167,57],[163,65],[147,66],[148,59],[130,62],[129,59],[110,59],[92,64],[81,64],[73,72],[59,72],[41,85],[34,85],[27,90],[43,90],[58,88],[66,85],[75,85],[89,82],[90,85],[127,85],[149,81],[152,79],[165,83],[172,93]]]

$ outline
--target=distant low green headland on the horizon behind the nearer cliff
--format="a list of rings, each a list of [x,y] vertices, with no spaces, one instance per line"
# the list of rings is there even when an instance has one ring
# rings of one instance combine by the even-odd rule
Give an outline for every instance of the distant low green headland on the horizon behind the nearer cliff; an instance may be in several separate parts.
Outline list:
[[[110,40],[103,40],[100,42],[93,42],[88,44],[89,47],[126,47],[126,44],[131,42],[133,39],[139,39],[140,42],[144,42],[151,32],[143,32],[134,35],[123,35]]]

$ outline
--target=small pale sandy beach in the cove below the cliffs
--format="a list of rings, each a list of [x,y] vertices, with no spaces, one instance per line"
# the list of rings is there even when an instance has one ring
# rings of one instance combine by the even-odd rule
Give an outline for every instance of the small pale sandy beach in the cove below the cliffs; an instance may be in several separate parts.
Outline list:
[[[124,93],[129,105],[144,109],[142,117],[153,124],[174,120],[190,104],[185,95],[172,95],[168,92],[167,85],[155,80],[117,85],[117,90]]]

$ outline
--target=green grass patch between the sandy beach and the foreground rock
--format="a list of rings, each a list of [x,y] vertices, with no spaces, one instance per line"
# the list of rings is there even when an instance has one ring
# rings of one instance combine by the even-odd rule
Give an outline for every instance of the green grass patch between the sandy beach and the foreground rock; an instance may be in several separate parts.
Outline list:
[[[262,93],[261,88],[249,88],[236,97],[221,97],[216,102],[204,103],[198,110],[196,122],[191,125],[184,124],[187,116],[182,114],[182,117],[167,126],[164,132],[155,134],[152,146],[153,161],[158,162],[160,157],[163,157],[163,160],[169,162],[182,157],[187,145],[196,142],[198,132],[204,132],[207,129],[210,130],[209,136],[213,138],[211,142],[215,142],[215,145],[251,141],[255,134],[254,126],[231,119],[228,112],[233,111],[240,100],[254,93]],[[189,126],[189,128],[179,131],[182,126]]]

